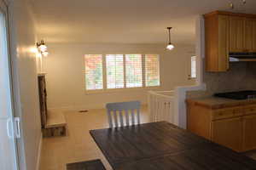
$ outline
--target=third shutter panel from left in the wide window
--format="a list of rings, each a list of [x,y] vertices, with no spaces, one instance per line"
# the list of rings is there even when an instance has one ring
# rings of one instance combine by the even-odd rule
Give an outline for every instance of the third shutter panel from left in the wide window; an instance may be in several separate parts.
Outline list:
[[[125,54],[126,88],[143,87],[142,54]]]

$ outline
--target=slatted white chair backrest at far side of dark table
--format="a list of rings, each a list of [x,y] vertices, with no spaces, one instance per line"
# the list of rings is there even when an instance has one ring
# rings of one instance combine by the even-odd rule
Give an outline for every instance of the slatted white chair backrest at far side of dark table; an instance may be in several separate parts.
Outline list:
[[[124,127],[135,124],[135,114],[137,114],[137,124],[140,124],[140,101],[108,103],[106,108],[108,110],[109,127]],[[130,122],[131,116],[131,122]],[[118,118],[119,117],[119,118]],[[124,121],[125,117],[125,121]],[[119,119],[119,121],[118,121]],[[114,124],[113,124],[114,123]]]

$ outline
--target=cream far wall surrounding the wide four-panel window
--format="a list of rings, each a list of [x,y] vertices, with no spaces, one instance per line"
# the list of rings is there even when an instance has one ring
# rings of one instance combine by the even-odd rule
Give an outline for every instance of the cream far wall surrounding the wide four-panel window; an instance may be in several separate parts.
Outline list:
[[[44,60],[47,72],[49,108],[103,108],[107,102],[140,99],[147,101],[147,90],[130,90],[111,94],[85,94],[84,54],[160,54],[160,90],[191,85],[188,80],[192,45],[176,45],[166,51],[165,45],[139,44],[48,44],[49,57]]]

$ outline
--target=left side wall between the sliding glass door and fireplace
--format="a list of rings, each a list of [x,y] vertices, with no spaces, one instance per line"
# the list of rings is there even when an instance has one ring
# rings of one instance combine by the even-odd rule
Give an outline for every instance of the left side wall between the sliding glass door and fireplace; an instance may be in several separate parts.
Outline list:
[[[14,66],[15,116],[20,116],[22,137],[18,140],[20,169],[37,169],[41,134],[38,80],[35,54],[35,22],[29,4],[15,0],[9,4],[11,55]]]

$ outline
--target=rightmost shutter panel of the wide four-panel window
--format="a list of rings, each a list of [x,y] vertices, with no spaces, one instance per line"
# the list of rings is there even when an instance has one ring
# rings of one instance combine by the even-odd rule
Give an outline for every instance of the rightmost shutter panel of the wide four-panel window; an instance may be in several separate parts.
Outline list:
[[[145,55],[145,81],[146,86],[160,86],[159,55]]]

